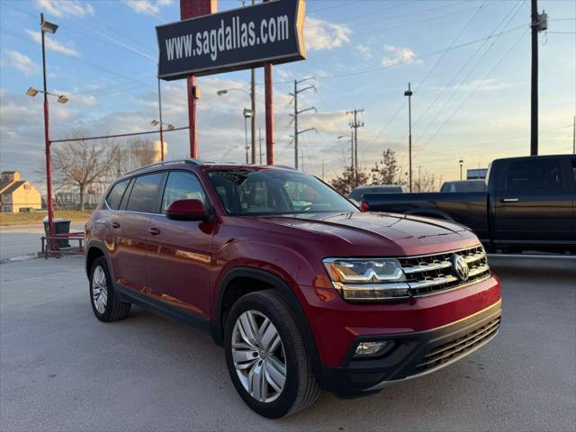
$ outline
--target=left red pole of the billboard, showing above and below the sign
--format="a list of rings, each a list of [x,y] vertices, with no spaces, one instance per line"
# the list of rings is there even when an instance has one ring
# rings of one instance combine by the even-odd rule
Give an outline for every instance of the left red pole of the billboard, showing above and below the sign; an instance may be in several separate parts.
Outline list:
[[[180,0],[180,19],[214,14],[218,10],[218,0]],[[198,133],[196,131],[196,77],[188,76],[188,124],[190,126],[190,157],[198,157]]]

